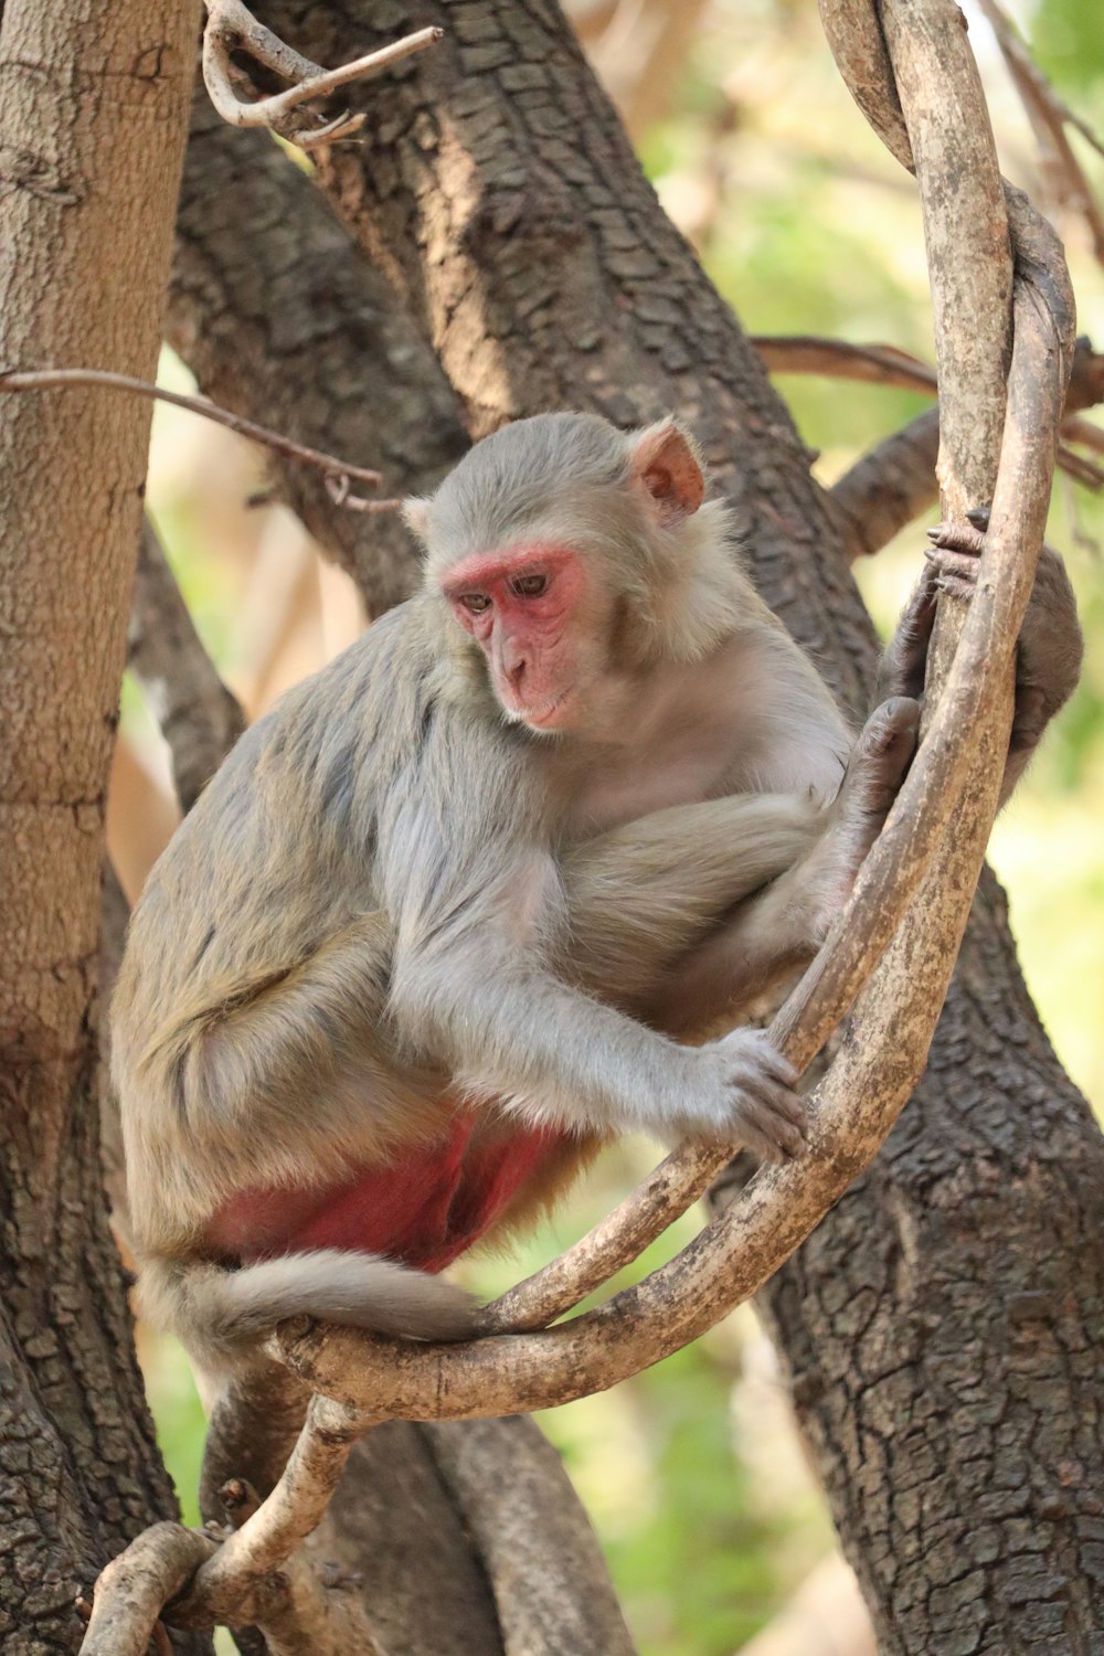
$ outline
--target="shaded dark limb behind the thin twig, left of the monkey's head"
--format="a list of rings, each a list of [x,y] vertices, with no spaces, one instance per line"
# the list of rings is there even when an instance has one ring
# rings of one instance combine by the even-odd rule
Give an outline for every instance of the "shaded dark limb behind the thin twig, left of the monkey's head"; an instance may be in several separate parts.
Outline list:
[[[202,391],[382,475],[432,489],[467,449],[457,399],[387,283],[311,181],[265,132],[195,93],[166,333]],[[278,462],[290,503],[358,581],[369,611],[417,581],[397,515],[334,510],[316,470]]]

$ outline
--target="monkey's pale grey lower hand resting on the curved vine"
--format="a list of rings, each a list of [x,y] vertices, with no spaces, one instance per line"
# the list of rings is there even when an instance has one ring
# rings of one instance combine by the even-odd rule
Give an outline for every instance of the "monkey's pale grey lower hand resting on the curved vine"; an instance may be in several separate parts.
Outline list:
[[[697,1052],[692,1133],[732,1138],[763,1161],[793,1161],[804,1149],[808,1106],[798,1071],[763,1030],[733,1030]]]

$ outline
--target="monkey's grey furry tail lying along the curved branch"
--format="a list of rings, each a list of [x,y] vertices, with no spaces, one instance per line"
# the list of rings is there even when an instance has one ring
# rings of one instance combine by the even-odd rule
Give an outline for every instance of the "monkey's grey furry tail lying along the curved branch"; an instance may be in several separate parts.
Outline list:
[[[149,1259],[137,1285],[142,1315],[209,1358],[233,1361],[285,1317],[321,1317],[404,1340],[465,1340],[478,1302],[442,1277],[376,1254],[316,1249],[228,1270]]]

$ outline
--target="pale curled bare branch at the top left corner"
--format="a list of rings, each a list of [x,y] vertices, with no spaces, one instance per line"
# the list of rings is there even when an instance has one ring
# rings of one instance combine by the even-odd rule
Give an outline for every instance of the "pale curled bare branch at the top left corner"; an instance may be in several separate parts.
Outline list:
[[[300,56],[286,41],[258,23],[253,13],[242,5],[242,0],[205,0],[205,3],[204,83],[215,109],[230,126],[265,126],[301,149],[351,137],[359,132],[366,119],[364,114],[351,116],[343,111],[333,121],[323,121],[314,111],[305,111],[303,104],[328,98],[339,86],[348,86],[349,81],[379,75],[392,63],[432,46],[444,35],[442,28],[422,28],[391,46],[344,63],[338,70],[323,70],[321,65]],[[235,75],[232,63],[235,53],[245,53],[263,70],[270,70],[295,84],[283,93],[271,93],[268,98],[238,98],[233,83],[242,76]],[[311,126],[306,126],[306,121]]]

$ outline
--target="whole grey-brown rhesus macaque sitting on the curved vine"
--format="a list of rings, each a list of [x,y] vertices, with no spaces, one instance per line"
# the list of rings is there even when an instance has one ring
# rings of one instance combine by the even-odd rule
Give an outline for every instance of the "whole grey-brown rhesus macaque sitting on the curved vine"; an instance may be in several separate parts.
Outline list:
[[[761,1032],[670,1037],[823,937],[970,550],[852,742],[703,493],[674,421],[478,444],[409,503],[422,593],[247,732],[151,874],[114,1073],[142,1303],[207,1366],[300,1312],[462,1336],[435,1273],[614,1133],[799,1154]]]

